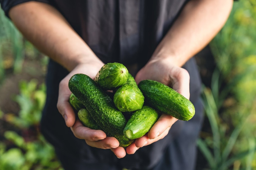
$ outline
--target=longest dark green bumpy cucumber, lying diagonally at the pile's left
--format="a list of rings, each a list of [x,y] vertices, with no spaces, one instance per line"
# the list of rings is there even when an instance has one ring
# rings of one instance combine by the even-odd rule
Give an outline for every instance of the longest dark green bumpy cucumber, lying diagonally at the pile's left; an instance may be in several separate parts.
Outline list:
[[[70,91],[83,103],[95,122],[107,136],[115,137],[120,146],[128,146],[133,141],[127,139],[123,130],[127,121],[113,103],[113,100],[85,74],[75,74],[68,83]]]

